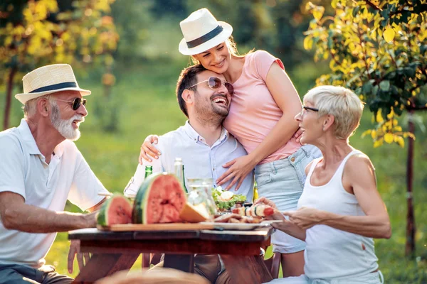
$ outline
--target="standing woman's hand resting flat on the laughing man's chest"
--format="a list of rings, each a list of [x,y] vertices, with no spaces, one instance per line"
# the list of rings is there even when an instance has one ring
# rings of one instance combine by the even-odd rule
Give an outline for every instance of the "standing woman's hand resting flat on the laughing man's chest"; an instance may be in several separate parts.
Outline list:
[[[216,180],[217,185],[223,185],[224,183],[231,180],[226,190],[230,190],[233,185],[236,185],[234,190],[238,190],[238,188],[242,185],[243,180],[246,178],[246,175],[251,173],[253,168],[257,163],[253,161],[253,159],[249,155],[243,155],[242,157],[231,160],[230,162],[223,165],[223,168],[228,168],[226,173],[223,173],[221,177]]]

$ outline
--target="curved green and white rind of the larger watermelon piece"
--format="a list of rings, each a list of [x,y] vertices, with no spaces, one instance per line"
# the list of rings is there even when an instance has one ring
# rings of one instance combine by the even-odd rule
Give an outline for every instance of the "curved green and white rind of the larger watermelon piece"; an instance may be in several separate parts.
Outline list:
[[[139,187],[139,190],[137,192],[137,195],[135,196],[134,205],[132,209],[132,223],[133,224],[148,224],[147,222],[147,215],[144,214],[144,208],[147,207],[149,192],[151,190],[156,190],[152,188],[152,183],[161,175],[169,175],[174,177],[179,185],[181,185],[181,182],[179,182],[178,178],[176,178],[175,175],[169,174],[169,173],[154,173],[152,175],[149,175],[144,182],[142,182],[142,185]],[[181,186],[181,190],[183,194],[184,188]]]

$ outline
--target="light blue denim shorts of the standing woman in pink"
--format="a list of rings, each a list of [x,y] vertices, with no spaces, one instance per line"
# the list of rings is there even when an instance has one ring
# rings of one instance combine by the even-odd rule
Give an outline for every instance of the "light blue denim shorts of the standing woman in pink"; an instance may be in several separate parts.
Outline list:
[[[322,155],[311,145],[302,146],[295,153],[280,160],[257,165],[255,180],[258,195],[275,202],[280,211],[297,209],[305,183],[305,167],[313,159]],[[271,236],[273,252],[295,253],[305,249],[305,242],[283,231],[275,231]]]

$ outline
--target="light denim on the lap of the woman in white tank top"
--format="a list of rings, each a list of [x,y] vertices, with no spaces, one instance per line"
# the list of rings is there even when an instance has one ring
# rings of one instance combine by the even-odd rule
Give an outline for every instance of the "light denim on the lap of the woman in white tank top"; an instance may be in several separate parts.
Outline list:
[[[305,275],[297,277],[279,278],[268,284],[383,284],[384,276],[381,271],[375,271],[358,277],[342,279],[310,279]]]

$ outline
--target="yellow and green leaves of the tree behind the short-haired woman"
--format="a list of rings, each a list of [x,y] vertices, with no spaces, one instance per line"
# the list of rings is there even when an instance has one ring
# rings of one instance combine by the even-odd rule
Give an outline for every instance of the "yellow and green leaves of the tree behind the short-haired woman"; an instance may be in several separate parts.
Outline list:
[[[307,4],[313,15],[304,46],[315,60],[327,60],[330,72],[317,84],[354,89],[374,113],[376,127],[366,134],[374,146],[397,143],[413,133],[402,131],[396,117],[427,109],[427,1],[332,0]]]

